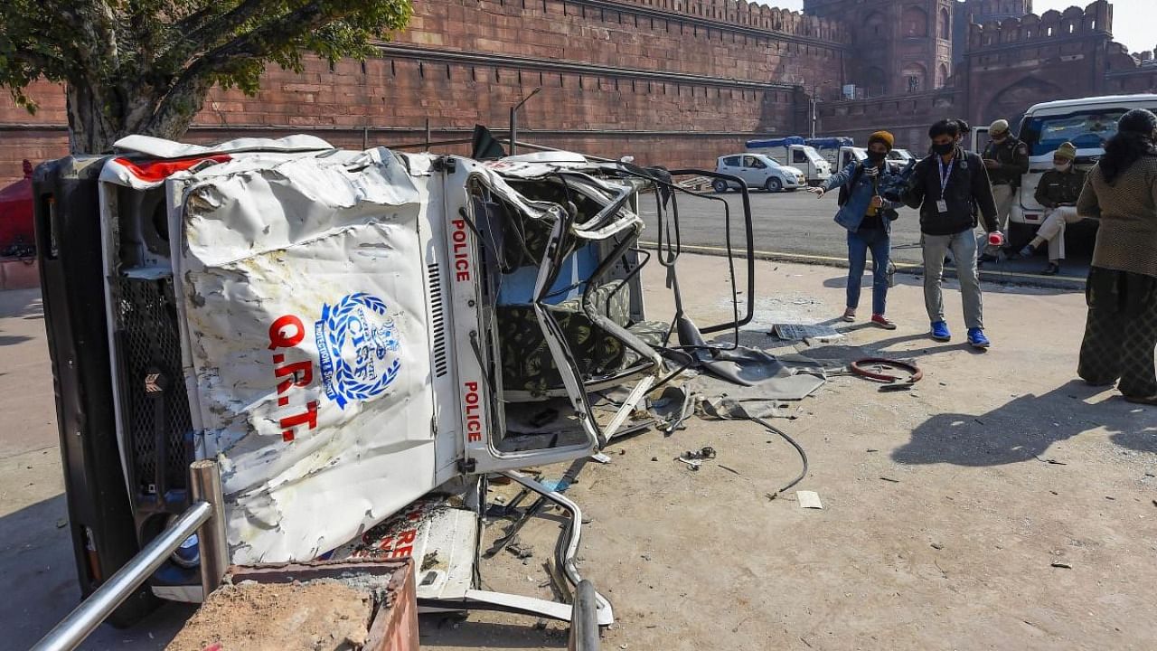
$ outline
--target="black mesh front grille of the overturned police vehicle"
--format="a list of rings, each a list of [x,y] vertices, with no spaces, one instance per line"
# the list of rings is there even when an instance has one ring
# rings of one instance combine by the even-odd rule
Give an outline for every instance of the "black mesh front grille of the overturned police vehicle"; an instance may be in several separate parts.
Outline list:
[[[180,365],[180,339],[171,279],[120,281],[120,363],[125,424],[133,480],[139,492],[184,489],[190,463],[192,419]],[[149,374],[167,382],[160,394],[147,388]],[[163,397],[157,397],[161,395]],[[163,415],[155,401],[163,401]],[[159,423],[159,420],[161,420]],[[159,445],[164,446],[160,459]],[[163,463],[163,476],[157,465]],[[161,485],[157,485],[160,480]]]

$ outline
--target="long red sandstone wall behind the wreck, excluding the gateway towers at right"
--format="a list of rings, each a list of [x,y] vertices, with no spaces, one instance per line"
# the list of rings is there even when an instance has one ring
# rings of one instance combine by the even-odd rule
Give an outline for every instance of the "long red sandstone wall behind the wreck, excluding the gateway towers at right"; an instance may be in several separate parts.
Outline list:
[[[414,141],[427,118],[435,138],[460,137],[476,123],[504,129],[508,108],[541,86],[521,114],[528,139],[709,166],[749,136],[794,132],[788,85],[842,81],[840,39],[834,21],[732,1],[419,0],[382,58],[272,68],[256,97],[214,92],[187,139],[312,131],[341,146]],[[36,116],[0,98],[0,183],[20,176],[21,159],[67,149],[62,93],[42,83],[31,94]]]

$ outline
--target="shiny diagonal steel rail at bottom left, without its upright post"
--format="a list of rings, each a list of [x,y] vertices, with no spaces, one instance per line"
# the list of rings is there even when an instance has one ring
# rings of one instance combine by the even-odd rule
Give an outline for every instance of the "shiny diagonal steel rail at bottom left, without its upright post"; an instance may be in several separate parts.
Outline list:
[[[212,514],[213,506],[206,502],[197,502],[190,506],[176,522],[146,544],[145,549],[37,642],[31,651],[71,651],[79,646]]]

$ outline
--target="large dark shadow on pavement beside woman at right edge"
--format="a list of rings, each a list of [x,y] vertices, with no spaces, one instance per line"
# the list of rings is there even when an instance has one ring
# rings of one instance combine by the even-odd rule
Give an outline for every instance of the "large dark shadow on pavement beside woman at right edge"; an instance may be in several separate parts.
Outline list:
[[[892,453],[898,463],[1001,466],[1039,458],[1051,445],[1104,426],[1118,445],[1157,452],[1157,410],[1120,397],[1085,401],[1105,390],[1073,380],[1044,395],[1023,395],[987,414],[938,414]]]

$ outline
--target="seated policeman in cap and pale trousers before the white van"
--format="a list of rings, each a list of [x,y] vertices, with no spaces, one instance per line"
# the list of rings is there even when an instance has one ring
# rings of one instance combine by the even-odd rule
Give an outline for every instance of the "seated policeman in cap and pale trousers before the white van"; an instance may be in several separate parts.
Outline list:
[[[1073,142],[1062,142],[1053,153],[1054,169],[1046,171],[1037,185],[1036,198],[1037,203],[1045,206],[1045,221],[1032,242],[1020,249],[1020,257],[1033,256],[1042,243],[1048,242],[1048,266],[1044,271],[1046,276],[1061,271],[1061,261],[1064,259],[1064,227],[1081,221],[1076,205],[1081,189],[1084,188],[1085,173],[1074,167],[1076,158],[1077,149]]]

